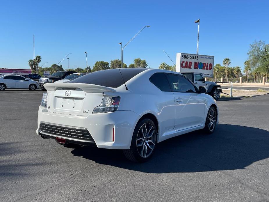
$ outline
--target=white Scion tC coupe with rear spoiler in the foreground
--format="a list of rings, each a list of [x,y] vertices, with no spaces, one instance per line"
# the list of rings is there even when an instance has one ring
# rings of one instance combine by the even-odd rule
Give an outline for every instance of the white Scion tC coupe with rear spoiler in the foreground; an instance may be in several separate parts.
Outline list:
[[[122,149],[136,162],[148,160],[158,142],[199,129],[212,133],[218,123],[205,88],[168,70],[101,70],[44,87],[38,135],[64,146]]]

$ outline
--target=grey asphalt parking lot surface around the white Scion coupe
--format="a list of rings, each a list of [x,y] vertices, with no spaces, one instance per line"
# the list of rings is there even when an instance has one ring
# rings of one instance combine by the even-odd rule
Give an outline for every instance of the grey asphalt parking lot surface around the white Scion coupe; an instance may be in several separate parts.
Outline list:
[[[212,135],[121,151],[65,148],[36,135],[43,91],[0,91],[0,201],[269,201],[269,95],[220,99]]]

